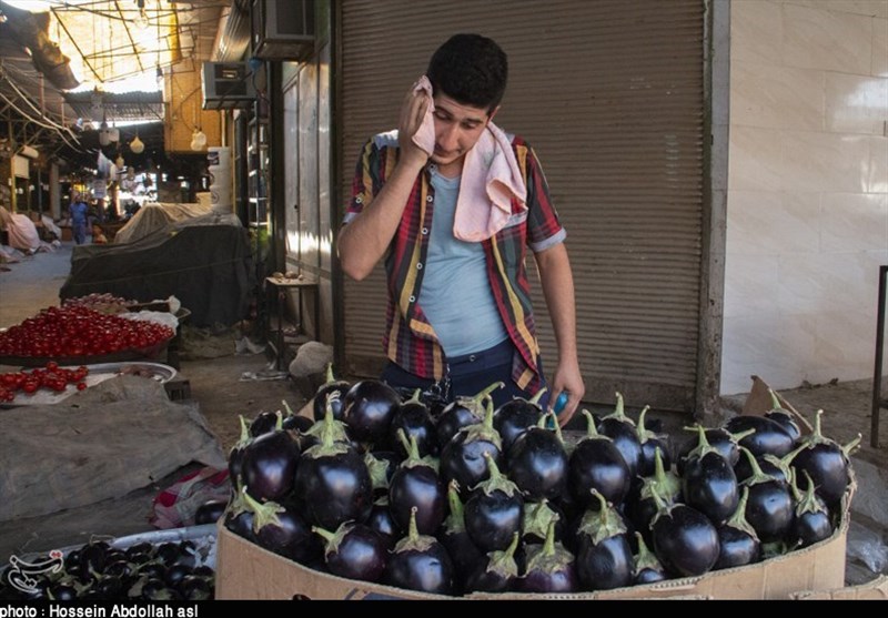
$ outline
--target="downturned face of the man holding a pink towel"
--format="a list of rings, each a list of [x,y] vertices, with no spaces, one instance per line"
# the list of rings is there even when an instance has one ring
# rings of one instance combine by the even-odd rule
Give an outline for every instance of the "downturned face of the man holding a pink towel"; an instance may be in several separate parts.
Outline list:
[[[497,108],[498,109],[498,108]],[[442,172],[457,172],[463,158],[481,138],[496,110],[457,103],[446,94],[435,94],[435,152],[432,161]]]

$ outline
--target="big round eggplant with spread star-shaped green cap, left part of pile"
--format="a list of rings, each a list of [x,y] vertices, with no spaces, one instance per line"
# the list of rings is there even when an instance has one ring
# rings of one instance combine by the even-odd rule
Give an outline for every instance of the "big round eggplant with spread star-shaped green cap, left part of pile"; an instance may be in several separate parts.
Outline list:
[[[312,526],[335,530],[345,521],[363,523],[373,505],[373,484],[364,458],[354,447],[334,442],[333,429],[300,457],[295,495]]]

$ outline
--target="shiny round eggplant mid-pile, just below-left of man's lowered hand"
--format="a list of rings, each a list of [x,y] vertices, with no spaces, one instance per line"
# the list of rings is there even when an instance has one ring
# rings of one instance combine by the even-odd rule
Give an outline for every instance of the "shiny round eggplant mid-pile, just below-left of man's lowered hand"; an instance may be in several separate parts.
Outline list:
[[[554,430],[545,427],[548,419]],[[504,443],[505,444],[505,443]],[[506,452],[508,477],[529,500],[555,499],[567,486],[568,459],[554,413],[519,434]]]

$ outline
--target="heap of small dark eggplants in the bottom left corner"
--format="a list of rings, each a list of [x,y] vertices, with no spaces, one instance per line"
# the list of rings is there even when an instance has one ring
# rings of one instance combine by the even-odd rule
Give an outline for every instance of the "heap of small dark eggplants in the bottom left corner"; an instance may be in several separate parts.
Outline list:
[[[3,600],[210,600],[215,571],[193,540],[140,541],[125,548],[94,540],[63,554],[10,560]]]

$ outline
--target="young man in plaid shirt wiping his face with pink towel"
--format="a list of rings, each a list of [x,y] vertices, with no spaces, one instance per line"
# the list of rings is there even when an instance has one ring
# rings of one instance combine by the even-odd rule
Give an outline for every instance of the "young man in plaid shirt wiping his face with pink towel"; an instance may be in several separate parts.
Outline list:
[[[492,122],[506,78],[505,52],[485,37],[456,34],[435,51],[404,99],[398,130],[362,150],[337,250],[357,281],[385,259],[390,364],[382,379],[437,385],[450,398],[502,381],[492,393],[497,406],[545,387],[547,407],[566,392],[564,425],[585,393],[566,234],[534,151]],[[527,250],[558,344],[548,381]]]

